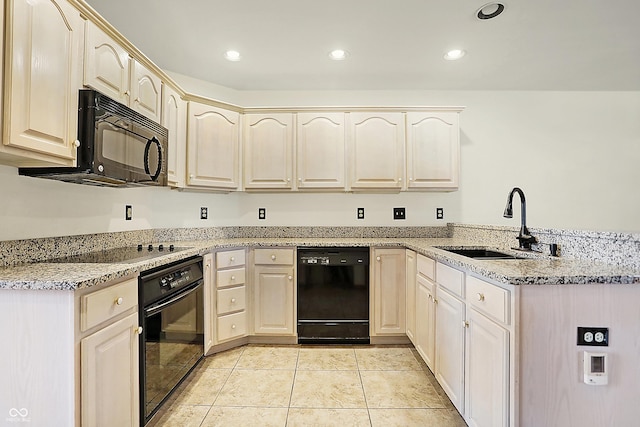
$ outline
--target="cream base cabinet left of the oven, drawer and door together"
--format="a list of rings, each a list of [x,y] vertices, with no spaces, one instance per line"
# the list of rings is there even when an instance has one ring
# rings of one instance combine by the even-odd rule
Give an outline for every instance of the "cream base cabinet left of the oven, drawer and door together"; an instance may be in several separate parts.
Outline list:
[[[80,295],[83,426],[139,425],[138,280]]]

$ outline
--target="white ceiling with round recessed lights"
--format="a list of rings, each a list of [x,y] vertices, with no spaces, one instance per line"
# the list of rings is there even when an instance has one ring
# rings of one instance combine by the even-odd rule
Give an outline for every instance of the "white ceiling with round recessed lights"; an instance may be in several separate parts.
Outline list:
[[[162,69],[236,90],[640,90],[633,0],[506,0],[491,20],[488,0],[86,1]]]

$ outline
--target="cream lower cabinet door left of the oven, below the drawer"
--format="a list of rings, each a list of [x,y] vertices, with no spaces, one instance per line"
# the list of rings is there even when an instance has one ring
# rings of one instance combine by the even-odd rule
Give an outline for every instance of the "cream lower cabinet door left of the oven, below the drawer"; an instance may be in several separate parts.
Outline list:
[[[138,426],[138,314],[80,341],[82,425]]]

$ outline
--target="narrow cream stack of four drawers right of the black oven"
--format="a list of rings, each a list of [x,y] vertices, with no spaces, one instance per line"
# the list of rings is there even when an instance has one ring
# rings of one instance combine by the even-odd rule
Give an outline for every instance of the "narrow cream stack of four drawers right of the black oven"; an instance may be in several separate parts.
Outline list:
[[[216,344],[247,335],[245,271],[245,249],[216,253]]]

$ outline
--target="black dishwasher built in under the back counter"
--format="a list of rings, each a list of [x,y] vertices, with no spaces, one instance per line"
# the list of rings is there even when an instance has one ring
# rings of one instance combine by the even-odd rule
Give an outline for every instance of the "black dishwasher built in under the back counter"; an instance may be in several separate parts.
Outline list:
[[[369,248],[298,248],[298,343],[369,344]]]

